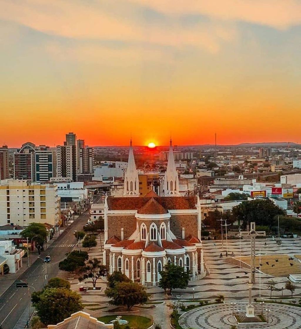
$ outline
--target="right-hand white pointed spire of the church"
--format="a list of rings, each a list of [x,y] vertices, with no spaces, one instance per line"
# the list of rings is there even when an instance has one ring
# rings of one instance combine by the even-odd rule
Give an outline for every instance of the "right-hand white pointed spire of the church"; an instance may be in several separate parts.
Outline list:
[[[179,195],[179,178],[174,158],[172,140],[170,139],[167,168],[164,175],[164,196]]]

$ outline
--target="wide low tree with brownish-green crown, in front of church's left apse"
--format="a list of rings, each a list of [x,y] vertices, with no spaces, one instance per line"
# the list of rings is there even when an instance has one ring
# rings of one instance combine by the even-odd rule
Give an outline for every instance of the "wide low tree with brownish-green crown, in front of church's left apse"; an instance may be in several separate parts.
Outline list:
[[[114,288],[107,288],[105,294],[112,298],[110,304],[126,306],[128,311],[136,304],[145,304],[150,298],[146,287],[132,281],[116,283]]]

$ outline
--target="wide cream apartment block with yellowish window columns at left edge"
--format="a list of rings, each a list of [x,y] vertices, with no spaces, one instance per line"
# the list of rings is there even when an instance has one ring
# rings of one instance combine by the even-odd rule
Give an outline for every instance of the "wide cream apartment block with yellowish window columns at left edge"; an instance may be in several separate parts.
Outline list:
[[[0,226],[60,222],[56,185],[30,184],[26,180],[0,181]]]

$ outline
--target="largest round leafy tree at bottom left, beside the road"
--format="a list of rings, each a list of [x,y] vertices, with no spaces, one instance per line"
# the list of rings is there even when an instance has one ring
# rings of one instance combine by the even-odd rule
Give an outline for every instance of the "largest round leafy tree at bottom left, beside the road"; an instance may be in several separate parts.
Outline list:
[[[32,302],[45,324],[57,324],[83,309],[81,296],[66,288],[49,288],[32,293]]]

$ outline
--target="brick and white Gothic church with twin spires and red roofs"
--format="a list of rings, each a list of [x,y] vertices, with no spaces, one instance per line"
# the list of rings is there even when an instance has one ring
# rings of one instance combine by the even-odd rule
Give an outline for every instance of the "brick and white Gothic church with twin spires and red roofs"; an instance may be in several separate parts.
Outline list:
[[[123,197],[108,197],[104,206],[103,263],[109,272],[122,271],[151,288],[163,266],[172,263],[204,276],[199,197],[179,196],[178,173],[170,141],[163,196],[150,191],[139,196],[132,142],[124,176]]]

